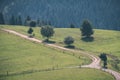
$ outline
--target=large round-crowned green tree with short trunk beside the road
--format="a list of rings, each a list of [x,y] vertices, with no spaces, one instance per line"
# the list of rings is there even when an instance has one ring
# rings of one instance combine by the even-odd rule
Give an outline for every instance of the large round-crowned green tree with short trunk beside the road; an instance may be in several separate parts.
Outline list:
[[[54,34],[54,29],[51,26],[42,26],[40,32],[43,37],[47,38],[46,41],[48,42],[49,38]]]

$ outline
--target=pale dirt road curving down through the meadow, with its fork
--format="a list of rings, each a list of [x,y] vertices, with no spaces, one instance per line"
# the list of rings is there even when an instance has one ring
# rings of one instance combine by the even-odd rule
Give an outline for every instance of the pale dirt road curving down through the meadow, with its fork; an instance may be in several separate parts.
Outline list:
[[[38,39],[35,39],[35,38],[29,38],[28,36],[23,35],[21,33],[18,33],[16,31],[13,31],[13,30],[8,30],[8,29],[1,29],[1,30],[5,31],[5,32],[8,32],[8,33],[12,33],[14,35],[17,35],[19,37],[22,37],[24,39],[27,39],[27,40],[30,40],[30,41],[33,41],[33,42],[36,42],[36,43],[42,43],[41,40],[38,40]],[[92,63],[90,63],[88,65],[82,65],[81,67],[83,67],[83,68],[100,69],[100,70],[103,70],[103,71],[106,71],[106,72],[112,74],[116,78],[116,80],[120,80],[120,73],[118,73],[116,71],[113,71],[111,69],[102,69],[101,66],[100,66],[100,59],[99,59],[99,57],[97,57],[95,55],[92,55],[92,54],[90,54],[88,52],[85,52],[85,51],[64,48],[64,47],[61,47],[61,46],[58,46],[58,45],[55,45],[55,44],[48,44],[48,43],[44,43],[44,44],[46,44],[47,46],[50,46],[50,47],[59,48],[61,50],[77,52],[77,53],[81,53],[81,54],[87,55],[87,56],[89,56],[92,59]],[[73,66],[73,67],[67,67],[67,68],[77,68],[77,67],[80,67],[80,66]]]

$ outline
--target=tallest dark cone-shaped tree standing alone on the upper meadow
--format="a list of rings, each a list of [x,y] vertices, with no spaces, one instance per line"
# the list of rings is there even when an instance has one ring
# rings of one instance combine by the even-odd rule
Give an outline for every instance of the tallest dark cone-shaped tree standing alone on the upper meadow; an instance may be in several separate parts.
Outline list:
[[[80,30],[81,30],[82,36],[87,38],[91,37],[91,35],[93,35],[94,33],[92,25],[88,20],[83,21]]]

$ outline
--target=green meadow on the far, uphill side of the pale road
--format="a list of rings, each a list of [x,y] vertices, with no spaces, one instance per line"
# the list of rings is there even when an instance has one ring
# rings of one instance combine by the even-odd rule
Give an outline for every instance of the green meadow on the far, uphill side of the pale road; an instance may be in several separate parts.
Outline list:
[[[1,27],[12,29],[28,35],[28,27],[9,25]],[[40,28],[36,27],[33,29],[35,38],[44,40],[40,34]],[[81,40],[79,28],[55,28],[55,34],[51,40],[55,41],[55,44],[57,45],[65,46],[63,40],[66,36],[72,36],[75,39],[75,43],[73,45],[75,45],[76,49],[93,52],[97,56],[103,52],[109,54],[109,68],[120,71],[120,31],[94,30],[94,40],[86,42]]]

